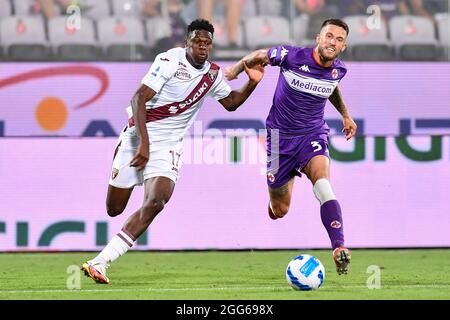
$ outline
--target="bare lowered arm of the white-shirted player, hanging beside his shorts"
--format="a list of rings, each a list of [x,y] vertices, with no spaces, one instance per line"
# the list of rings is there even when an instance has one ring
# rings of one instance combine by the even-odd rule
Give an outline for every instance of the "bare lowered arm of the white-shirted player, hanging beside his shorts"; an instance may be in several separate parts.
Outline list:
[[[146,108],[145,103],[153,98],[156,92],[146,85],[136,91],[131,99],[131,108],[133,110],[133,120],[136,126],[137,134],[140,138],[138,149],[130,161],[130,167],[136,167],[138,170],[144,169],[150,155],[150,141],[148,138],[146,126]]]

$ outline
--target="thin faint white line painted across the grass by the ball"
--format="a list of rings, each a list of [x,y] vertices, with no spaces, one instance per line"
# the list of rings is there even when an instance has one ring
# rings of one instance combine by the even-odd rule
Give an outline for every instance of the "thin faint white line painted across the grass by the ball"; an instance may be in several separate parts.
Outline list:
[[[324,287],[326,288],[326,287]],[[333,287],[331,289],[367,289],[364,285],[342,285],[339,287]],[[417,289],[417,288],[429,288],[429,289],[450,289],[450,284],[411,284],[411,285],[381,285],[380,290],[383,289]],[[253,291],[253,290],[272,290],[272,291],[290,291],[292,290],[289,286],[282,287],[217,287],[217,288],[145,288],[145,289],[49,289],[49,290],[0,290],[2,293],[89,293],[89,292],[177,292],[177,291],[227,291],[227,290],[242,290],[242,291]],[[371,290],[372,291],[372,290]],[[378,291],[378,290],[374,290]]]

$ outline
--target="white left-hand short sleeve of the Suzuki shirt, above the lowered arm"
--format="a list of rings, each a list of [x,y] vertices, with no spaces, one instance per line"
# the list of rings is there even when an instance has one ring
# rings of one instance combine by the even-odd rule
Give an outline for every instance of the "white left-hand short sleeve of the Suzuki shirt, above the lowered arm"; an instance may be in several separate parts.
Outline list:
[[[159,92],[162,86],[174,75],[174,66],[178,66],[176,58],[171,57],[166,52],[157,55],[141,83],[155,92]]]

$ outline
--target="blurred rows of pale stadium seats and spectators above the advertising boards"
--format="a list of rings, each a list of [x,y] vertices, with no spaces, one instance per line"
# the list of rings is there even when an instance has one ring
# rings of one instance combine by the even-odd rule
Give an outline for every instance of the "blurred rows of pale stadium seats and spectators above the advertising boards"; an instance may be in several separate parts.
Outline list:
[[[313,46],[322,22],[349,27],[344,60],[449,61],[448,0],[0,0],[1,61],[152,61],[196,18],[213,58]]]

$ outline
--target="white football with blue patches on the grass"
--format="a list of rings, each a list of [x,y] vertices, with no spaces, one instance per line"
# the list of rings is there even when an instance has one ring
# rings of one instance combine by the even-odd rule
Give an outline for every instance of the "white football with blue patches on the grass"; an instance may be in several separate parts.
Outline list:
[[[315,256],[302,254],[289,262],[286,279],[295,290],[317,290],[325,280],[325,268]]]

